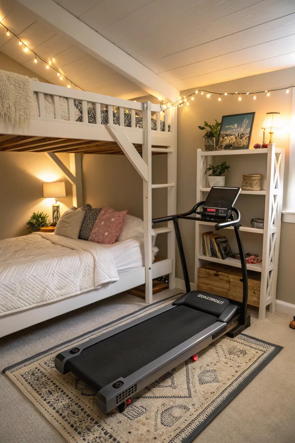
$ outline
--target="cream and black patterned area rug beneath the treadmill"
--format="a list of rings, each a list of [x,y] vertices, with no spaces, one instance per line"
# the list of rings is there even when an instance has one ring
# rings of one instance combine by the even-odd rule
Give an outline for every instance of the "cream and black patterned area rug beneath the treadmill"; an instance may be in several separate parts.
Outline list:
[[[222,337],[149,385],[121,414],[104,416],[92,391],[73,374],[54,368],[58,352],[172,303],[146,306],[115,322],[62,343],[4,372],[71,443],[192,442],[235,396],[280,352],[281,346],[240,334]],[[157,343],[155,343],[157,346]]]

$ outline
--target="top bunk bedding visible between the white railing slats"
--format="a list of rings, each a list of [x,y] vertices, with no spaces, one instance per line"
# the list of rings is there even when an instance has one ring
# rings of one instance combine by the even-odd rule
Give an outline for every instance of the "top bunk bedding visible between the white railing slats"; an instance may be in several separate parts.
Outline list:
[[[45,101],[45,115],[47,118],[55,118],[53,98],[49,94],[44,94]],[[69,106],[65,97],[59,97],[60,106],[60,118],[61,120],[69,120]],[[82,121],[82,102],[74,99],[74,115],[76,121]],[[87,103],[88,123],[96,124],[96,111],[92,102]],[[40,117],[37,93],[34,92],[34,117]],[[101,124],[108,123],[108,111],[107,109],[101,109],[100,111]],[[119,112],[113,110],[113,122],[119,124]],[[160,121],[160,130],[165,131],[165,121]],[[124,112],[124,126],[131,127],[131,115],[128,112]],[[136,128],[142,128],[142,116],[135,115]],[[157,120],[152,118],[152,130],[157,130]],[[168,125],[168,132],[170,132],[170,124]]]

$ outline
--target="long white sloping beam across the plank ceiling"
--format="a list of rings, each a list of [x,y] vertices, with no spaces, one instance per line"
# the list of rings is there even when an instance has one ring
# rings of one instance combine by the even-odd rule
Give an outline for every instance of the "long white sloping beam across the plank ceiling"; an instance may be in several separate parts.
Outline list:
[[[53,0],[18,0],[88,54],[110,66],[155,97],[169,101],[179,98],[179,90],[163,80],[131,55],[105,39]],[[85,66],[85,75],[87,67]]]

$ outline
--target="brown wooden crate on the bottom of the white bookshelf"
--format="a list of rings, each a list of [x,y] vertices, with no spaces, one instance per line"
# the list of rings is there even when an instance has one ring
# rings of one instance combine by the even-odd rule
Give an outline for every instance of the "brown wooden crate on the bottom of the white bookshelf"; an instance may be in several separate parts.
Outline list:
[[[199,291],[210,292],[228,299],[242,301],[241,269],[225,264],[211,263],[198,268]],[[248,303],[259,306],[261,273],[248,271]]]

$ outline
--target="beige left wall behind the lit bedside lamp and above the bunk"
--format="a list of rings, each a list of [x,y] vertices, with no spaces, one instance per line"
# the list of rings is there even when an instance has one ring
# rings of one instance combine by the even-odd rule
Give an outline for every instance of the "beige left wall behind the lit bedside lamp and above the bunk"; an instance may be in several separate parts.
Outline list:
[[[0,52],[0,69],[38,77],[23,65]],[[60,158],[69,166],[69,155]],[[45,154],[0,152],[0,240],[27,233],[26,221],[34,211],[44,211],[52,219],[54,199],[43,198],[42,182],[65,181],[67,197],[61,198],[61,213],[72,205],[72,186],[61,170]]]

